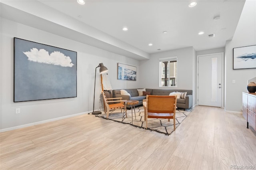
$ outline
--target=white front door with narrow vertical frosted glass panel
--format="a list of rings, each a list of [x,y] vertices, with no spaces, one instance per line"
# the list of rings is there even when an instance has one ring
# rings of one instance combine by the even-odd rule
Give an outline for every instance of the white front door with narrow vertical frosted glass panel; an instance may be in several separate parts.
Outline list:
[[[198,105],[222,107],[223,53],[198,56]]]

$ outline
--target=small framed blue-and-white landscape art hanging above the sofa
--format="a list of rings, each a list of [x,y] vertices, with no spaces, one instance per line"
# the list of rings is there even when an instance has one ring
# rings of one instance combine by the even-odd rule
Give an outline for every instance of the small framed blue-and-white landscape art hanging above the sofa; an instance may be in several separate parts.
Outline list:
[[[117,79],[118,80],[134,80],[136,81],[137,67],[117,63]]]

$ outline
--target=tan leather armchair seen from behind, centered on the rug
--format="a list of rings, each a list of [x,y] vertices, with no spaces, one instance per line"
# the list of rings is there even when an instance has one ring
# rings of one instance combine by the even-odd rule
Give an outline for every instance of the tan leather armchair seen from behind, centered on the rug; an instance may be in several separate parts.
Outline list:
[[[147,95],[146,98],[146,128],[148,128],[148,118],[173,119],[175,127],[177,96],[155,96]]]

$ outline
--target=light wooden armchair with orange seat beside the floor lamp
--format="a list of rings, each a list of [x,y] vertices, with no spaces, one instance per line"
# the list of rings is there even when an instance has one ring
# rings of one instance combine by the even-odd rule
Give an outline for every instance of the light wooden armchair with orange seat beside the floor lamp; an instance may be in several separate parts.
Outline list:
[[[122,97],[116,97],[116,98],[106,98],[105,92],[102,91],[102,96],[104,99],[104,104],[105,104],[105,113],[107,113],[107,119],[108,119],[108,115],[109,115],[109,111],[110,110],[116,110],[116,109],[124,109],[124,103],[122,103],[123,101],[126,100],[121,100]],[[110,104],[111,103],[111,104]]]

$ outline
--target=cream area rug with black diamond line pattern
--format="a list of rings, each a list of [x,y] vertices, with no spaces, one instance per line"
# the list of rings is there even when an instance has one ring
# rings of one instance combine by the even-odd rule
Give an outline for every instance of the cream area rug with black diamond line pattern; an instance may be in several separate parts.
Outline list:
[[[191,113],[192,109],[176,109],[176,128],[184,121],[184,119]],[[119,123],[130,124],[134,127],[146,129],[146,121],[144,121],[144,108],[143,106],[135,107],[136,119],[133,111],[133,125],[132,125],[132,110],[127,110],[127,118],[121,109],[110,111],[110,115],[107,120],[116,121]],[[96,115],[96,117],[102,117],[106,119],[106,114]],[[173,120],[170,119],[148,119],[148,128],[147,130],[156,131],[165,135],[170,135],[174,131]]]

